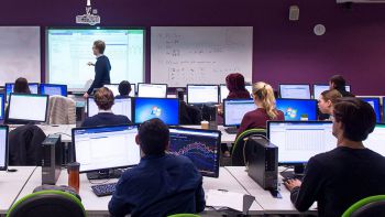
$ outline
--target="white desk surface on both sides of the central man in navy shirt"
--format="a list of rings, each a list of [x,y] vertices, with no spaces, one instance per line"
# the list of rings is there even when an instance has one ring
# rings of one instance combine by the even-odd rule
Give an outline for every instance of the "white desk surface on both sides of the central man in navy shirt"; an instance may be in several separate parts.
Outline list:
[[[100,183],[102,181],[94,181],[95,183]],[[108,183],[118,182],[118,180],[110,180]],[[42,169],[37,167],[33,175],[31,176],[30,181],[26,183],[23,191],[20,193],[18,199],[22,198],[23,196],[31,194],[32,191],[41,185],[42,183]],[[57,185],[67,185],[68,183],[68,175],[65,170],[62,171],[62,174],[59,176],[59,180],[57,181]],[[88,180],[86,174],[80,174],[80,197],[81,203],[85,206],[85,209],[87,210],[87,214],[89,216],[109,216],[108,211],[108,203],[111,199],[111,196],[105,196],[105,197],[97,197],[92,189],[91,184]],[[242,194],[246,194],[246,191],[237,182],[237,180],[226,170],[224,167],[220,169],[220,175],[219,178],[212,178],[212,177],[204,177],[204,188],[205,191],[209,189],[228,189],[230,192],[238,192]],[[212,215],[220,215],[220,211],[216,210],[205,210],[202,215],[212,216]],[[263,214],[262,207],[257,203],[253,203],[252,207],[250,208],[250,214],[256,215],[256,214]]]

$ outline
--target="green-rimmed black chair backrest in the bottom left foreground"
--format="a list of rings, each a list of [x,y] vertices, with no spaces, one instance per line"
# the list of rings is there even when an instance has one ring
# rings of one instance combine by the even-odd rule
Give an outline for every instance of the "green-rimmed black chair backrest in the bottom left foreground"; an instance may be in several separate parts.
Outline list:
[[[9,217],[55,216],[85,217],[81,202],[74,195],[62,191],[36,192],[18,200],[8,211]]]

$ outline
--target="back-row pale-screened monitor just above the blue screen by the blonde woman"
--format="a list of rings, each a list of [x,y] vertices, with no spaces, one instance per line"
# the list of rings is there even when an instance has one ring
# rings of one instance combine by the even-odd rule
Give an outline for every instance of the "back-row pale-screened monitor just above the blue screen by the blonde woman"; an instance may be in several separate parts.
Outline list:
[[[310,99],[310,85],[279,85],[283,99]]]

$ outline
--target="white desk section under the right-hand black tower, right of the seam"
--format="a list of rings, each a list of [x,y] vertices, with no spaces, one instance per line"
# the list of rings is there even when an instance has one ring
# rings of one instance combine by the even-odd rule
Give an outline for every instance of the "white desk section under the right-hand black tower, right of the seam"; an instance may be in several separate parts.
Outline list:
[[[243,185],[250,195],[264,209],[265,214],[299,214],[290,202],[290,192],[282,184],[279,176],[279,193],[283,198],[274,198],[268,191],[263,189],[255,181],[253,181],[245,171],[244,166],[226,166],[226,169]],[[310,207],[306,214],[317,214],[316,204]]]

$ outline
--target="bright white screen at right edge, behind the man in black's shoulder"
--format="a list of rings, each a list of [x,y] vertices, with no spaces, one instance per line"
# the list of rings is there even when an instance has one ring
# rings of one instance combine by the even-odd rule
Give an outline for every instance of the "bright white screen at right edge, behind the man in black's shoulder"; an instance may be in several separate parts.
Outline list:
[[[374,131],[369,134],[367,139],[363,141],[364,147],[377,152],[378,154],[385,156],[385,124],[377,123]]]

